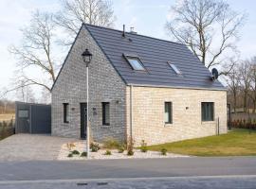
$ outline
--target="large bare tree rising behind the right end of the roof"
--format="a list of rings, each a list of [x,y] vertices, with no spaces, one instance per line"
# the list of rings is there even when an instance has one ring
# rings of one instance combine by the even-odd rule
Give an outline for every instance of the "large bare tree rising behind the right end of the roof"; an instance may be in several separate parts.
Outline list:
[[[236,51],[245,15],[230,9],[223,0],[183,0],[170,11],[173,17],[167,30],[208,68],[226,60],[221,56],[224,52]]]

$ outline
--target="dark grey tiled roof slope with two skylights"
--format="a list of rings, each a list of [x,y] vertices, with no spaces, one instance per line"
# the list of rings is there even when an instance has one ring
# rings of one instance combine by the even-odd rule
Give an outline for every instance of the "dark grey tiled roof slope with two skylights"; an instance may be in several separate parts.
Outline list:
[[[184,88],[210,88],[225,90],[218,81],[210,79],[210,71],[184,44],[172,43],[147,36],[101,26],[84,25],[111,61],[126,84],[153,85]],[[132,69],[123,54],[136,55],[147,72]],[[182,72],[177,76],[167,61]]]

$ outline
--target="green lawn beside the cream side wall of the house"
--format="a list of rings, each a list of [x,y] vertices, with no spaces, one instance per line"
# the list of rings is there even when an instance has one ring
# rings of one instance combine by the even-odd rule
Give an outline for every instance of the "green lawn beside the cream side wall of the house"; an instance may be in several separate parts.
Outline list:
[[[149,150],[160,151],[166,148],[169,152],[194,156],[255,156],[256,131],[232,129],[228,134],[209,136],[198,139],[148,146]]]

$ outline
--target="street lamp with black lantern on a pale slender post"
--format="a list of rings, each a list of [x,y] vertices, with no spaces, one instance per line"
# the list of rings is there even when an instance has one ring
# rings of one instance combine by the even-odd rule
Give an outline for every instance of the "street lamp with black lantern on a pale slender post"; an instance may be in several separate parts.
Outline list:
[[[86,115],[86,151],[87,151],[87,158],[89,158],[90,153],[90,129],[89,129],[89,63],[92,60],[92,54],[86,48],[85,51],[82,53],[82,60],[86,64],[86,101],[87,101],[87,115]]]

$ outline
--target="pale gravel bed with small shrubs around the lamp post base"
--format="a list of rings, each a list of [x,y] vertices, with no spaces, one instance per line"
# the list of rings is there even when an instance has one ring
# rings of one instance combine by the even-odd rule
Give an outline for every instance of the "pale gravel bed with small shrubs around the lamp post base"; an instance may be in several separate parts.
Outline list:
[[[86,151],[86,142],[76,142],[73,143],[75,146],[72,150],[78,150],[80,153]],[[125,150],[123,153],[119,153],[117,149],[112,149],[111,155],[105,155],[106,149],[100,149],[98,152],[91,152],[90,159],[143,159],[143,158],[179,158],[179,157],[190,157],[186,155],[167,153],[166,156],[161,155],[158,151],[147,151],[141,152],[139,149],[134,149],[133,156],[127,156],[127,151]],[[58,160],[86,160],[86,157],[80,157],[80,155],[73,155],[73,157],[67,157],[70,153],[67,144],[62,146],[62,149],[59,153]]]

